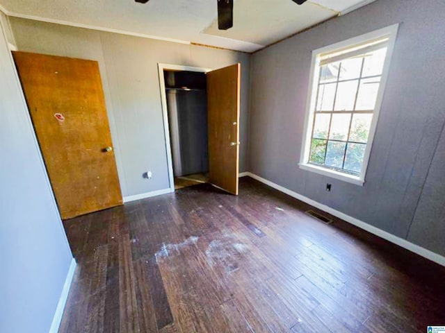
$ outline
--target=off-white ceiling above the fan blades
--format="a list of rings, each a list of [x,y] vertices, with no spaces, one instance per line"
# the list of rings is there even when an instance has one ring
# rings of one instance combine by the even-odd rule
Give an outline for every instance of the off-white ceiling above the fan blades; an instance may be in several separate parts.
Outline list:
[[[234,27],[218,30],[217,0],[0,0],[6,14],[252,52],[374,0],[235,0]]]

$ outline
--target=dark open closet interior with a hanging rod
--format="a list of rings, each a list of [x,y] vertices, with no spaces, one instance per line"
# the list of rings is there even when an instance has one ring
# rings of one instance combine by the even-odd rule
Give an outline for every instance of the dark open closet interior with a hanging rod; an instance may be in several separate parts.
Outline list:
[[[164,69],[175,190],[209,181],[207,78]]]

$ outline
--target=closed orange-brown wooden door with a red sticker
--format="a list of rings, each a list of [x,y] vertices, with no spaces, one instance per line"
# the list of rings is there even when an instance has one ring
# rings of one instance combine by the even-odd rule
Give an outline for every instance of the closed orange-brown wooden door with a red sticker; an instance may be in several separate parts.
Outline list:
[[[62,218],[121,205],[97,62],[13,56]]]

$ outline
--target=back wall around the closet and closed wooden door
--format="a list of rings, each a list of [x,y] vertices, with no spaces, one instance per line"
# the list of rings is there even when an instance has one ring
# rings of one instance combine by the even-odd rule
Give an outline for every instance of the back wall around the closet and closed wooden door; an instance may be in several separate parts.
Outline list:
[[[246,170],[250,55],[10,18],[20,51],[99,61],[123,196],[169,187],[158,62],[217,69],[241,62],[240,171]],[[152,171],[152,180],[143,173]]]

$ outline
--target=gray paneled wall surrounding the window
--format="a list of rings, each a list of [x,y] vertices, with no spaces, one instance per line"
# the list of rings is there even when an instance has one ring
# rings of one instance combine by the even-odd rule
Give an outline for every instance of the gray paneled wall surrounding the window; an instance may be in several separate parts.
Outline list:
[[[445,121],[444,12],[445,1],[379,0],[254,53],[249,171],[445,255],[445,144],[426,180]],[[312,50],[396,23],[364,187],[300,170]]]

